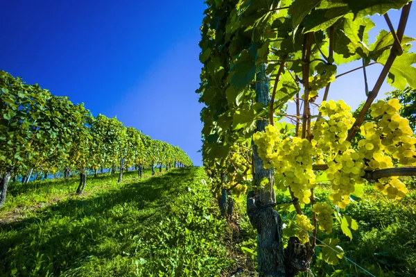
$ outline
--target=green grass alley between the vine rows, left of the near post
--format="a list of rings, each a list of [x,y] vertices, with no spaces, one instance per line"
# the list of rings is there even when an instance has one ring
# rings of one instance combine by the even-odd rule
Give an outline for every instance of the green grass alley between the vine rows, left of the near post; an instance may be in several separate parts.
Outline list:
[[[219,276],[229,267],[225,221],[202,168],[141,181],[125,175],[121,185],[103,176],[97,185],[111,186],[0,226],[1,276]],[[46,186],[36,193],[52,193]],[[66,194],[64,186],[53,190]]]

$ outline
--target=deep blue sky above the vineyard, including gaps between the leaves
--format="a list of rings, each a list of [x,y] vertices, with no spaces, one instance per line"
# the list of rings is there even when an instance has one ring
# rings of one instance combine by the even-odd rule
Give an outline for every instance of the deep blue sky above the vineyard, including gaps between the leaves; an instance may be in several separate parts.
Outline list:
[[[203,0],[3,1],[0,69],[178,145],[201,165],[195,90],[204,9]],[[397,26],[399,12],[389,14]],[[416,37],[415,16],[413,6],[408,36]],[[372,36],[387,28],[383,17],[375,21]],[[370,78],[380,70],[369,69]],[[340,78],[331,95],[356,107],[364,99],[362,73]]]

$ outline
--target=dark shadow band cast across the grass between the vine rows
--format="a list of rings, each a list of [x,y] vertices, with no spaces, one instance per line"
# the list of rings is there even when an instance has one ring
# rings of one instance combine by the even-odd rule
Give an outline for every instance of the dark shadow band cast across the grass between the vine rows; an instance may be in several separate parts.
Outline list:
[[[13,272],[58,276],[91,257],[121,255],[141,232],[141,224],[163,212],[165,205],[184,192],[178,181],[182,184],[193,178],[194,171],[175,169],[114,185],[92,196],[65,199],[33,217],[0,226],[0,272],[4,276]]]

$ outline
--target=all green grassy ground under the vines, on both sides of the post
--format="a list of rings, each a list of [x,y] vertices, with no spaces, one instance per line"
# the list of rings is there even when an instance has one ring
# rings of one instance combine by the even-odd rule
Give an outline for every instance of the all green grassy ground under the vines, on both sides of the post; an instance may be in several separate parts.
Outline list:
[[[202,168],[145,176],[127,172],[121,184],[116,174],[89,177],[82,196],[73,194],[76,178],[11,185],[0,211],[0,222],[12,221],[0,224],[0,276],[256,276],[256,231],[244,195],[227,221]],[[409,187],[401,201],[363,187],[365,199],[340,210],[358,221],[352,240],[334,223],[345,256],[374,276],[416,276],[416,193]],[[328,200],[324,185],[316,194]],[[284,197],[277,194],[277,202]],[[293,212],[281,216],[288,226]],[[370,276],[346,259],[323,262],[319,242],[315,250],[316,277]]]

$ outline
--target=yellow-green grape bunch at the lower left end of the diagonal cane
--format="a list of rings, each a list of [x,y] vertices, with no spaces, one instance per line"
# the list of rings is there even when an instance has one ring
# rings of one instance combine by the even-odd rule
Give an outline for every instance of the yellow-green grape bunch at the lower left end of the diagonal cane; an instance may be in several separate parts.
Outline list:
[[[333,158],[338,151],[345,151],[350,144],[346,141],[348,130],[354,124],[351,108],[343,101],[322,101],[319,111],[322,117],[313,128],[313,141],[320,151]],[[327,118],[325,118],[327,117]]]

